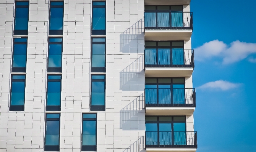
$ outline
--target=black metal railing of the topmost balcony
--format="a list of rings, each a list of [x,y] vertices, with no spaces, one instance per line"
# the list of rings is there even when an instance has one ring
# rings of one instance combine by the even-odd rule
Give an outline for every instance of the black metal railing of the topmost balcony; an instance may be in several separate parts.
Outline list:
[[[145,11],[144,29],[192,29],[192,12]]]

